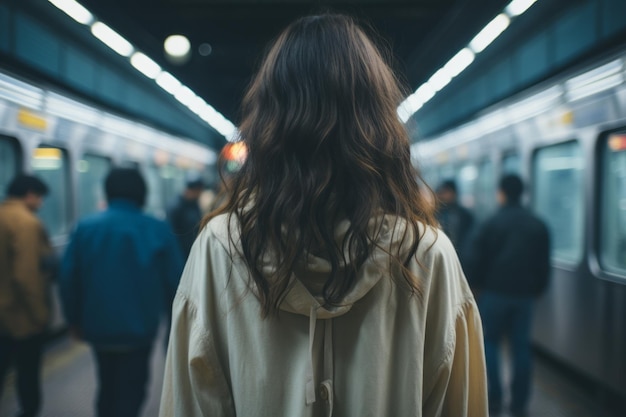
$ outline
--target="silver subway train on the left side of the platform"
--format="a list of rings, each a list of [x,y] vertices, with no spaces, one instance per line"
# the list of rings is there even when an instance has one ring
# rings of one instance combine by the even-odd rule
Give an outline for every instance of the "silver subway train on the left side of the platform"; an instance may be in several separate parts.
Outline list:
[[[39,212],[60,255],[76,220],[103,208],[113,166],[138,168],[148,186],[144,210],[165,208],[192,178],[212,181],[217,153],[137,121],[0,72],[0,200],[19,172],[50,188]],[[63,328],[55,294],[52,330]]]

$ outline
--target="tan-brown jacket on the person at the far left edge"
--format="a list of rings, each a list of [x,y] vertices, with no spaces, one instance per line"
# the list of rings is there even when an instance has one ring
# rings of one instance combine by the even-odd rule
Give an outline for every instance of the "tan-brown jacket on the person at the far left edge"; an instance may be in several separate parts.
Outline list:
[[[50,320],[52,247],[39,219],[20,199],[0,204],[0,335],[22,339]]]

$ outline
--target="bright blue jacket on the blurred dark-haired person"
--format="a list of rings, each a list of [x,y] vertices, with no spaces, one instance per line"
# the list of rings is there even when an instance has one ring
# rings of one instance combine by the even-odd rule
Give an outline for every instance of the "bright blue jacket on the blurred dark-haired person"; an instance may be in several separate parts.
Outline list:
[[[169,225],[126,200],[79,222],[61,266],[70,326],[96,348],[150,345],[183,269]]]

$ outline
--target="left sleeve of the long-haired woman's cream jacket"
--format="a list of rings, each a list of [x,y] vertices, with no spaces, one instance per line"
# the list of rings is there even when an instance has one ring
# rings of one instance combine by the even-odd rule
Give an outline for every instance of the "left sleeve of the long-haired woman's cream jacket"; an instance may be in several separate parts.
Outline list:
[[[179,292],[174,300],[159,417],[234,417],[213,334]]]

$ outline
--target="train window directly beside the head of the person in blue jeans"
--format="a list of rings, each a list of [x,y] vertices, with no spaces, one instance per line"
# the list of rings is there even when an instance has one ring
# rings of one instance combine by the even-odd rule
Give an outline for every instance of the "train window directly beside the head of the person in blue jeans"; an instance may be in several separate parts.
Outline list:
[[[583,254],[583,166],[578,142],[539,149],[533,160],[533,206],[548,223],[552,258],[569,264]]]

